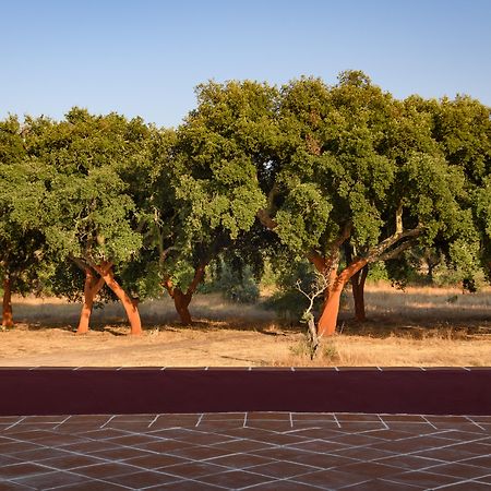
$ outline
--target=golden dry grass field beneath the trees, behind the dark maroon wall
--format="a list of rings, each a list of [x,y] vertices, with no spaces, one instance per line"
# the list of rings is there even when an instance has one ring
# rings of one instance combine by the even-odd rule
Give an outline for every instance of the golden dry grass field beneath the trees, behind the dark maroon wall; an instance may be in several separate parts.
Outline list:
[[[244,366],[491,366],[491,289],[368,285],[369,321],[352,321],[349,295],[339,334],[324,339],[311,361],[303,326],[276,320],[259,306],[196,296],[195,323],[180,326],[168,299],[141,304],[145,332],[128,336],[122,309],[93,314],[93,330],[74,334],[80,304],[15,298],[16,327],[0,332],[3,367],[244,367]]]

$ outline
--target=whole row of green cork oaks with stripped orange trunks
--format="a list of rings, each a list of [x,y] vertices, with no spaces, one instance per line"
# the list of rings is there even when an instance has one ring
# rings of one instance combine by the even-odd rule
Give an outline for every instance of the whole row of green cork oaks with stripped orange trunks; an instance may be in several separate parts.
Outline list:
[[[184,324],[217,258],[324,278],[318,334],[351,283],[364,319],[370,265],[404,280],[415,254],[472,284],[491,265],[491,112],[467,96],[405,100],[359,71],[336,85],[208,82],[177,129],[73,108],[0,121],[2,324],[11,294],[139,301],[167,291]]]

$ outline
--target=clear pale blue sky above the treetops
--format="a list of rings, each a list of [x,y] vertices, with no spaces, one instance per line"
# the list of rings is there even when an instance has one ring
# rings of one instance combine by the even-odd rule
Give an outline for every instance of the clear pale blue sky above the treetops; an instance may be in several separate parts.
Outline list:
[[[72,106],[177,125],[196,84],[360,69],[491,106],[491,0],[0,0],[0,118]]]

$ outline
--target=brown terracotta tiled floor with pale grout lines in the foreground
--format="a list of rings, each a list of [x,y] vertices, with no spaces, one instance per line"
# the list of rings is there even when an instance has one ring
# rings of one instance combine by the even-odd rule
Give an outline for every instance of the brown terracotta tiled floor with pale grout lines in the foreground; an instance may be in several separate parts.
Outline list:
[[[491,489],[491,416],[0,417],[5,490]]]

